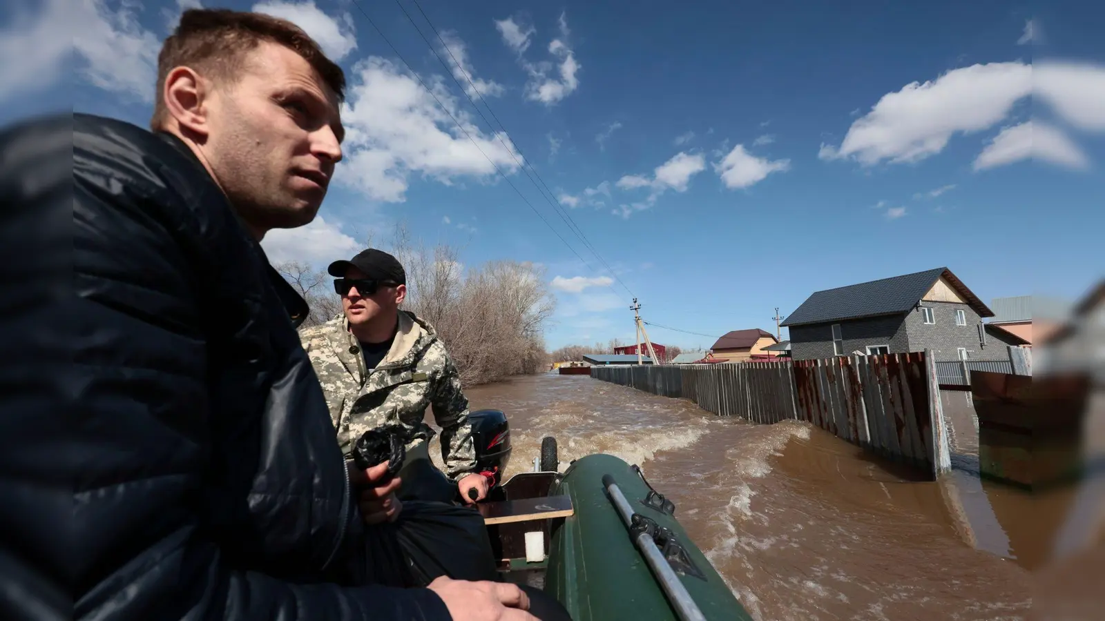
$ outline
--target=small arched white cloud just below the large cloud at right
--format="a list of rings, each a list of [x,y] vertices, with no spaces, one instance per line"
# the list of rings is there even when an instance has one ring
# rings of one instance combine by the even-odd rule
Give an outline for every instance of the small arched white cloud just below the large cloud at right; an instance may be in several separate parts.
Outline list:
[[[1024,159],[1040,159],[1073,170],[1086,170],[1090,160],[1057,127],[1029,120],[1006,127],[975,159],[975,170],[1006,166]]]

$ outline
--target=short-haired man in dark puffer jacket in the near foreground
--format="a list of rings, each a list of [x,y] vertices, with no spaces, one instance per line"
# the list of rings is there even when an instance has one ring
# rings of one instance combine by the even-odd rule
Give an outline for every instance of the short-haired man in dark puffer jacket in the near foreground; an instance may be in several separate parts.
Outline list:
[[[76,295],[52,323],[67,340],[27,337],[71,356],[57,434],[31,410],[2,428],[4,474],[72,484],[72,503],[2,481],[20,504],[0,526],[25,536],[2,536],[19,587],[0,615],[56,613],[60,587],[78,619],[534,619],[506,583],[359,586],[358,502],[386,505],[393,485],[373,488],[386,464],[347,471],[295,333],[306,304],[259,244],[325,197],[341,70],[290,22],[202,10],[158,64],[154,133],[74,114],[2,137],[11,162],[32,141],[67,156],[72,130],[71,179],[48,165],[0,187],[13,212],[73,206]],[[30,386],[19,372],[6,361],[0,383]]]

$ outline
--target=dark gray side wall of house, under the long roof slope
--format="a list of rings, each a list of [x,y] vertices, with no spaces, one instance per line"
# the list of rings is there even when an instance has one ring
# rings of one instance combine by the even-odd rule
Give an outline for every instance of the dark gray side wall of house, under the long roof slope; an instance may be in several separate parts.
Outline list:
[[[886,315],[834,322],[840,324],[840,335],[844,339],[844,355],[851,355],[855,350],[866,352],[869,345],[888,345],[892,354],[909,351],[905,317],[905,315]],[[792,359],[833,357],[832,324],[790,326],[789,330]]]

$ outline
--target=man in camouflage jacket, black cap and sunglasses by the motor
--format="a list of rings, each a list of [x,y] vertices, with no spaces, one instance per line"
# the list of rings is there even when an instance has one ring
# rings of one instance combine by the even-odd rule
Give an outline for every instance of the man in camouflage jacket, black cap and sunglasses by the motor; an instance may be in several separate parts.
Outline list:
[[[407,293],[402,265],[369,249],[335,261],[328,272],[337,277],[343,314],[303,330],[299,339],[326,393],[343,453],[348,459],[366,431],[398,423],[410,434],[408,451],[428,456],[434,431],[423,418],[430,407],[442,430],[446,476],[457,483],[465,502],[472,488],[483,499],[487,483],[475,470],[460,375],[433,326],[399,309]]]

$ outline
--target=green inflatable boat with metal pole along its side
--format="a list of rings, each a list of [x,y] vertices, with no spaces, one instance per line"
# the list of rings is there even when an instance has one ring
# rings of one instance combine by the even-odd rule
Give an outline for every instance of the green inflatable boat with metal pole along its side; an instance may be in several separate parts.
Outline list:
[[[546,438],[534,472],[480,504],[504,579],[575,621],[751,619],[636,465],[593,454],[559,473],[555,455]]]

